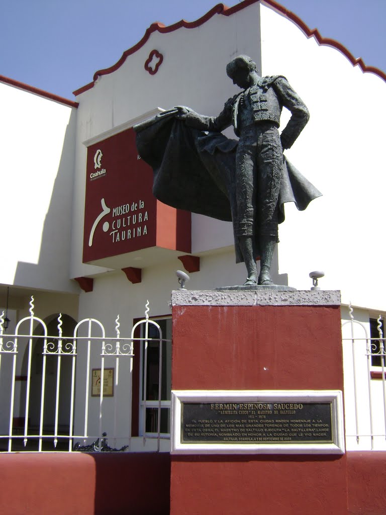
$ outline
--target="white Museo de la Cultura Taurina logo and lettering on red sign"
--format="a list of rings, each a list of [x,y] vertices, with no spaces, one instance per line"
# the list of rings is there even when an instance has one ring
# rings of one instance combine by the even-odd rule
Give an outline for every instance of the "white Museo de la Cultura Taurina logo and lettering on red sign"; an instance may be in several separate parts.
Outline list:
[[[90,231],[89,247],[93,245],[94,233],[99,222],[103,217],[111,213],[111,209],[107,207],[104,198],[100,200],[102,211],[95,218],[93,227]],[[112,220],[111,220],[112,218]],[[126,239],[138,238],[147,234],[147,224],[149,215],[145,208],[145,202],[138,200],[127,204],[117,205],[113,208],[110,222],[105,220],[102,225],[103,232],[108,232],[111,223],[112,243],[124,242]]]

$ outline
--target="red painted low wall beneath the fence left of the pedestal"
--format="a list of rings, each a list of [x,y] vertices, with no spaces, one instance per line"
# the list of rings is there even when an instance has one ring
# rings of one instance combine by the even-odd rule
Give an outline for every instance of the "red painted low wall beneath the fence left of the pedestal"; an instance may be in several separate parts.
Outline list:
[[[0,455],[0,515],[168,515],[167,453]]]

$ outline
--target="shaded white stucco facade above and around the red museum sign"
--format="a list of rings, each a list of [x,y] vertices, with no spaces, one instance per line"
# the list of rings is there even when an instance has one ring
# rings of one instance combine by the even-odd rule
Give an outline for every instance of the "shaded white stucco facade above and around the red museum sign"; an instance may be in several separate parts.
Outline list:
[[[248,34],[248,37],[245,35]],[[151,50],[164,60],[155,75],[144,68]],[[71,277],[106,271],[82,265],[86,148],[82,142],[161,107],[186,105],[215,115],[238,88],[226,76],[226,64],[240,53],[258,63],[259,8],[253,5],[233,16],[215,15],[197,28],[154,32],[146,44],[94,87],[80,94],[78,109]],[[231,137],[233,131],[228,133]],[[232,227],[206,217],[192,217],[192,253],[233,245]]]

